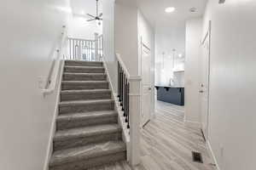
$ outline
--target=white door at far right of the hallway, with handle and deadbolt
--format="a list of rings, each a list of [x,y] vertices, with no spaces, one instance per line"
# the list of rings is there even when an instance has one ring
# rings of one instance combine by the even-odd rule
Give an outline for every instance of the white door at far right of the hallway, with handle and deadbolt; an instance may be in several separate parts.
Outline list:
[[[208,118],[209,118],[209,76],[210,76],[210,30],[211,23],[209,23],[209,29],[202,42],[202,59],[201,59],[201,124],[202,132],[205,139],[208,138]]]

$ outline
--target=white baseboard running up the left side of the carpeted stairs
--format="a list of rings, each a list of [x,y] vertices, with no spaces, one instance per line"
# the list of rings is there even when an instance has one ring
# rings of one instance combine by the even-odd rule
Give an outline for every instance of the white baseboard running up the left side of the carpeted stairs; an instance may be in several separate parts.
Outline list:
[[[47,146],[47,151],[46,151],[46,156],[45,156],[45,160],[44,160],[44,170],[49,170],[49,159],[50,159],[50,156],[51,156],[51,153],[52,153],[52,150],[53,150],[53,138],[54,138],[54,135],[55,135],[55,120],[56,120],[56,117],[58,116],[58,112],[59,112],[59,101],[60,101],[60,91],[61,91],[61,80],[62,80],[62,74],[63,74],[63,71],[64,71],[64,60],[61,60],[61,71],[59,71],[59,74],[58,77],[58,88],[57,88],[57,97],[56,97],[56,100],[55,100],[55,112],[54,112],[54,116],[53,116],[53,119],[52,119],[52,122],[51,122],[51,127],[50,127],[50,132],[49,132],[49,141],[48,141],[48,146]]]

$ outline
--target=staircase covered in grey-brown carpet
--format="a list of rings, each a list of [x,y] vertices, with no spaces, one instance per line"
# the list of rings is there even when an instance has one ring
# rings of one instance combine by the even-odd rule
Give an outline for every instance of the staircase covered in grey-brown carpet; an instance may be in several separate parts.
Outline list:
[[[66,60],[49,170],[84,170],[126,159],[102,62]]]

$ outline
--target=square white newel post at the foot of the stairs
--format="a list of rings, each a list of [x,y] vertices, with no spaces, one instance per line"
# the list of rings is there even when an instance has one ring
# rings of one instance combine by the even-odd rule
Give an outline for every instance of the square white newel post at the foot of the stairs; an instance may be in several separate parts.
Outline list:
[[[130,163],[140,163],[141,77],[130,77]]]

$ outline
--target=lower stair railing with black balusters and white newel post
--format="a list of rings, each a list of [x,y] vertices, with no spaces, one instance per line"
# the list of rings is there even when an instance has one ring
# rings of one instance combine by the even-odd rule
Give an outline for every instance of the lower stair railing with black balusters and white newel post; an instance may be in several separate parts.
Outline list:
[[[116,59],[119,110],[130,138],[127,157],[131,165],[136,166],[140,162],[141,77],[129,74],[119,54],[116,54]]]

